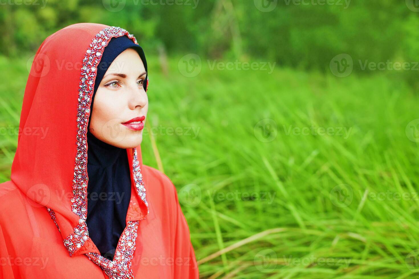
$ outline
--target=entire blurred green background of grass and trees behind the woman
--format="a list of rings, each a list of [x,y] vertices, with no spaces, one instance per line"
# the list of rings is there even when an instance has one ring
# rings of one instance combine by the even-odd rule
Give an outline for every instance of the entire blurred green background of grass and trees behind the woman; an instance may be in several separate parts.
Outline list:
[[[143,161],[202,278],[419,277],[419,1],[0,4],[0,182],[41,42],[120,26],[149,62]]]

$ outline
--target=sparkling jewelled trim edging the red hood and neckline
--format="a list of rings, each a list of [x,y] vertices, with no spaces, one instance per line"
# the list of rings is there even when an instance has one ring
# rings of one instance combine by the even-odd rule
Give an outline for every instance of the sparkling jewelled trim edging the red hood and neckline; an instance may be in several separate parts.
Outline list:
[[[93,84],[96,78],[96,68],[103,54],[103,49],[113,37],[127,35],[135,44],[137,39],[123,28],[111,26],[101,30],[92,39],[89,48],[83,59],[81,69],[78,108],[77,108],[77,154],[75,157],[74,179],[72,181],[73,197],[71,198],[72,212],[78,215],[79,225],[74,228],[64,240],[64,245],[68,253],[72,256],[89,238],[87,219],[87,125],[90,114],[91,96],[93,95]],[[148,80],[147,80],[148,84]],[[141,200],[147,206],[147,213],[150,212],[145,195],[145,187],[142,181],[140,163],[137,157],[137,149],[133,152],[132,167],[135,188]],[[52,220],[59,230],[54,210],[47,208]],[[106,259],[99,253],[86,253],[85,255],[98,264],[109,278],[134,278],[131,270],[131,260],[135,250],[135,239],[137,238],[137,228],[139,221],[129,221],[127,227],[119,239],[113,261]]]

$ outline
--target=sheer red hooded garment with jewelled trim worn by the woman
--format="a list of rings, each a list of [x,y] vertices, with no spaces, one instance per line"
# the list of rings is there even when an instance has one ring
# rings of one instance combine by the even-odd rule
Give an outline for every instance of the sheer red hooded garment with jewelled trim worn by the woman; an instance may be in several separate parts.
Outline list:
[[[0,278],[199,278],[171,180],[127,149],[127,227],[113,261],[89,238],[87,124],[96,67],[123,28],[78,23],[41,44],[26,84],[11,181],[0,184]],[[147,191],[146,191],[147,189]]]

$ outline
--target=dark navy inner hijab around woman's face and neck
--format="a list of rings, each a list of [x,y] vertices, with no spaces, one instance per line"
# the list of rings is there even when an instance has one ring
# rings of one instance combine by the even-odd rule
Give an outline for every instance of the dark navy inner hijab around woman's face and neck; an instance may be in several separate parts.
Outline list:
[[[103,76],[116,56],[129,48],[138,52],[147,72],[147,61],[140,46],[134,44],[127,36],[112,38],[103,50],[101,62],[97,68],[91,102],[92,112],[96,90]],[[146,86],[147,84],[144,84],[145,90]],[[86,222],[89,236],[101,255],[113,260],[119,238],[126,226],[127,210],[131,199],[131,174],[127,150],[99,140],[90,130],[88,128],[87,132],[89,180]]]

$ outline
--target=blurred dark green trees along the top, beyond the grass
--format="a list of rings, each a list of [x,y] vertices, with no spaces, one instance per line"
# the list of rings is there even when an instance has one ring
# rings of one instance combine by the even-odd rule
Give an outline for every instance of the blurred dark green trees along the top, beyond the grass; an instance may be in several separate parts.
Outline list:
[[[241,59],[246,54],[282,66],[326,71],[334,56],[347,53],[354,60],[354,71],[362,73],[368,72],[361,67],[365,61],[419,60],[419,13],[409,10],[404,1],[333,2],[340,5],[305,1],[303,5],[283,0],[269,12],[256,8],[254,1],[239,0],[124,3],[115,12],[93,0],[48,0],[45,6],[3,3],[2,53],[34,52],[60,28],[97,22],[127,28],[148,51],[157,53],[162,46],[168,55],[194,52]],[[398,74],[413,77],[416,72]]]

